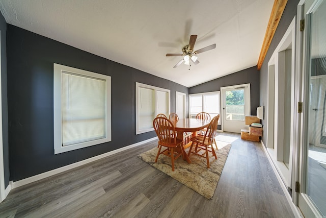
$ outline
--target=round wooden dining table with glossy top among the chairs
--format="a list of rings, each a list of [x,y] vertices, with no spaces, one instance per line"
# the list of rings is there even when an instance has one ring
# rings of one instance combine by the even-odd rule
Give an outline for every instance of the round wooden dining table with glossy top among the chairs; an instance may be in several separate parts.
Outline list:
[[[182,118],[177,122],[173,123],[174,128],[177,132],[177,138],[183,140],[184,132],[192,132],[193,136],[196,136],[197,131],[204,129],[208,126],[209,120],[196,119],[196,118]],[[184,151],[184,146],[182,146],[183,156],[188,163],[191,163],[191,159],[188,157],[187,153]]]

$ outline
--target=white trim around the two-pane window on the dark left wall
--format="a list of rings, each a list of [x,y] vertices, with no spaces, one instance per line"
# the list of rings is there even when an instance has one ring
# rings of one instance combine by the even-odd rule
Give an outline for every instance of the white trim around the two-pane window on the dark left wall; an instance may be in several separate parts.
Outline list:
[[[141,133],[145,133],[145,132],[150,132],[150,131],[154,131],[154,127],[152,128],[148,128],[148,129],[142,129],[140,130],[139,129],[139,101],[138,101],[138,96],[139,96],[139,88],[148,88],[148,89],[153,89],[154,90],[154,99],[153,99],[153,102],[155,104],[154,106],[154,117],[158,114],[158,108],[157,108],[157,91],[164,91],[164,92],[168,92],[168,96],[169,96],[169,100],[168,100],[168,114],[170,114],[170,107],[171,107],[171,92],[170,92],[170,89],[165,89],[165,88],[160,88],[160,87],[156,87],[156,86],[151,86],[151,85],[147,85],[147,84],[143,84],[143,83],[139,83],[139,82],[136,82],[135,84],[135,125],[136,125],[136,135],[138,134],[141,134]],[[153,119],[154,119],[153,117]]]

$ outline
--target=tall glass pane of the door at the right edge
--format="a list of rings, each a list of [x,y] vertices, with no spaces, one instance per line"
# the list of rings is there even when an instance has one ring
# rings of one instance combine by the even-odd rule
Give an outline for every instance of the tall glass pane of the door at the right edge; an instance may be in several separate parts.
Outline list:
[[[326,216],[326,1],[311,13],[310,26],[310,105],[307,143],[307,186],[306,193],[320,212]]]

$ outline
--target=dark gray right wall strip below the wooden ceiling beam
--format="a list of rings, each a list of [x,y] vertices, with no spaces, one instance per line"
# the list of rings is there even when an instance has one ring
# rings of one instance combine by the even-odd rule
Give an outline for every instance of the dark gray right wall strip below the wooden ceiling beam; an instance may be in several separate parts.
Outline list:
[[[269,45],[269,49],[267,51],[267,54],[265,56],[265,59],[263,61],[263,64],[260,68],[260,106],[264,106],[264,113],[267,113],[267,67],[268,67],[268,61],[273,55],[277,45],[280,43],[282,37],[284,36],[286,30],[288,29],[292,19],[296,15],[296,9],[297,4],[299,3],[298,0],[292,0],[288,1],[286,4],[286,7],[284,9],[284,12],[282,14],[282,17],[280,19],[279,25],[276,29],[275,35],[273,37],[273,40],[271,40],[271,43]],[[266,116],[265,116],[266,117]],[[264,118],[265,118],[264,117]],[[267,120],[266,118],[262,120],[262,124],[267,126]],[[262,141],[266,146],[266,130],[263,131]]]

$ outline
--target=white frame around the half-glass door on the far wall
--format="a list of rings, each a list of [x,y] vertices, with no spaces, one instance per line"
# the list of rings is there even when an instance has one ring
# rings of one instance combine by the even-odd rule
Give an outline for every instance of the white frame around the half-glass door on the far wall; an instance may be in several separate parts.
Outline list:
[[[224,120],[226,119],[226,109],[225,109],[225,102],[224,102],[224,90],[226,89],[234,89],[234,88],[241,88],[241,87],[248,87],[248,105],[247,107],[244,109],[244,116],[248,116],[248,115],[251,115],[251,100],[250,100],[250,83],[247,83],[247,84],[240,84],[240,85],[234,85],[234,86],[225,86],[225,87],[221,87],[221,122],[222,122],[222,125],[221,125],[221,129],[222,129],[222,132],[224,132]],[[244,103],[246,104],[246,102]],[[246,114],[246,111],[248,114]],[[243,121],[243,128],[245,128],[245,120]],[[240,133],[240,132],[239,132]]]

